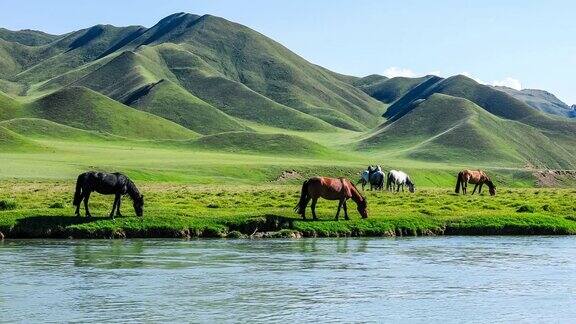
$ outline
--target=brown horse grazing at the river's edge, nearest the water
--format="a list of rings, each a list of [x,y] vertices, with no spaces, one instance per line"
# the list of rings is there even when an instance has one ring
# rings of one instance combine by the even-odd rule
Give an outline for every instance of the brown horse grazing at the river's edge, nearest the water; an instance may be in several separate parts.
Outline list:
[[[308,202],[312,200],[312,219],[317,220],[316,217],[316,202],[318,198],[324,198],[328,200],[339,200],[338,211],[336,212],[336,220],[338,220],[338,215],[340,214],[340,209],[344,207],[344,219],[348,220],[348,209],[346,206],[346,200],[352,199],[358,205],[358,212],[362,215],[362,218],[368,217],[368,211],[366,209],[366,198],[364,198],[356,186],[350,180],[345,178],[326,178],[326,177],[313,177],[310,178],[302,184],[302,193],[300,194],[300,201],[294,210],[302,215],[302,219],[306,219],[306,206]]]

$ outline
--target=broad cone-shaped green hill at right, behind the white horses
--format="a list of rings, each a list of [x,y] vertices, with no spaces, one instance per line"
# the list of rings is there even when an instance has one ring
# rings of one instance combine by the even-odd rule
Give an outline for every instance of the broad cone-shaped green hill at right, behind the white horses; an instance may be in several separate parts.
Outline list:
[[[441,94],[430,96],[363,144],[431,161],[530,162],[573,168],[575,159],[536,128],[494,117],[466,99]]]

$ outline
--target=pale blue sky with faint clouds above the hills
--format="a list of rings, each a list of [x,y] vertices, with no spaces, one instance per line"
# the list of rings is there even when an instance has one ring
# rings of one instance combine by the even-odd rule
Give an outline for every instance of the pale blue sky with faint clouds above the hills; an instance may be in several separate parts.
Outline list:
[[[340,73],[463,73],[576,104],[575,1],[20,0],[0,2],[0,27],[149,27],[180,11],[247,25]]]

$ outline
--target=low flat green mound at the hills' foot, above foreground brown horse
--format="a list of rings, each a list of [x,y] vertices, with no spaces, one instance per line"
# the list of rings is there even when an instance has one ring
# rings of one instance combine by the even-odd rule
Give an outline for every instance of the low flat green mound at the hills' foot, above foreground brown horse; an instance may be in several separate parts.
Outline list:
[[[193,141],[191,146],[217,152],[302,157],[323,156],[330,152],[326,147],[298,136],[254,132],[230,132],[204,136]]]

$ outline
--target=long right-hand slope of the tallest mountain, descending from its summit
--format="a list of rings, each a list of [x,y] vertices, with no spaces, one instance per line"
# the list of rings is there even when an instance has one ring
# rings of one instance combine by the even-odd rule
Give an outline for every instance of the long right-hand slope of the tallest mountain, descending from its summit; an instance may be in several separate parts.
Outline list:
[[[226,78],[292,108],[312,115],[316,108],[330,108],[363,124],[375,125],[380,105],[331,72],[290,52],[273,40],[239,24],[205,15],[173,18],[166,38],[185,43],[186,49]],[[189,28],[179,30],[179,26]],[[152,33],[152,31],[150,31]],[[142,35],[145,38],[147,35]],[[135,42],[141,41],[137,39]]]

